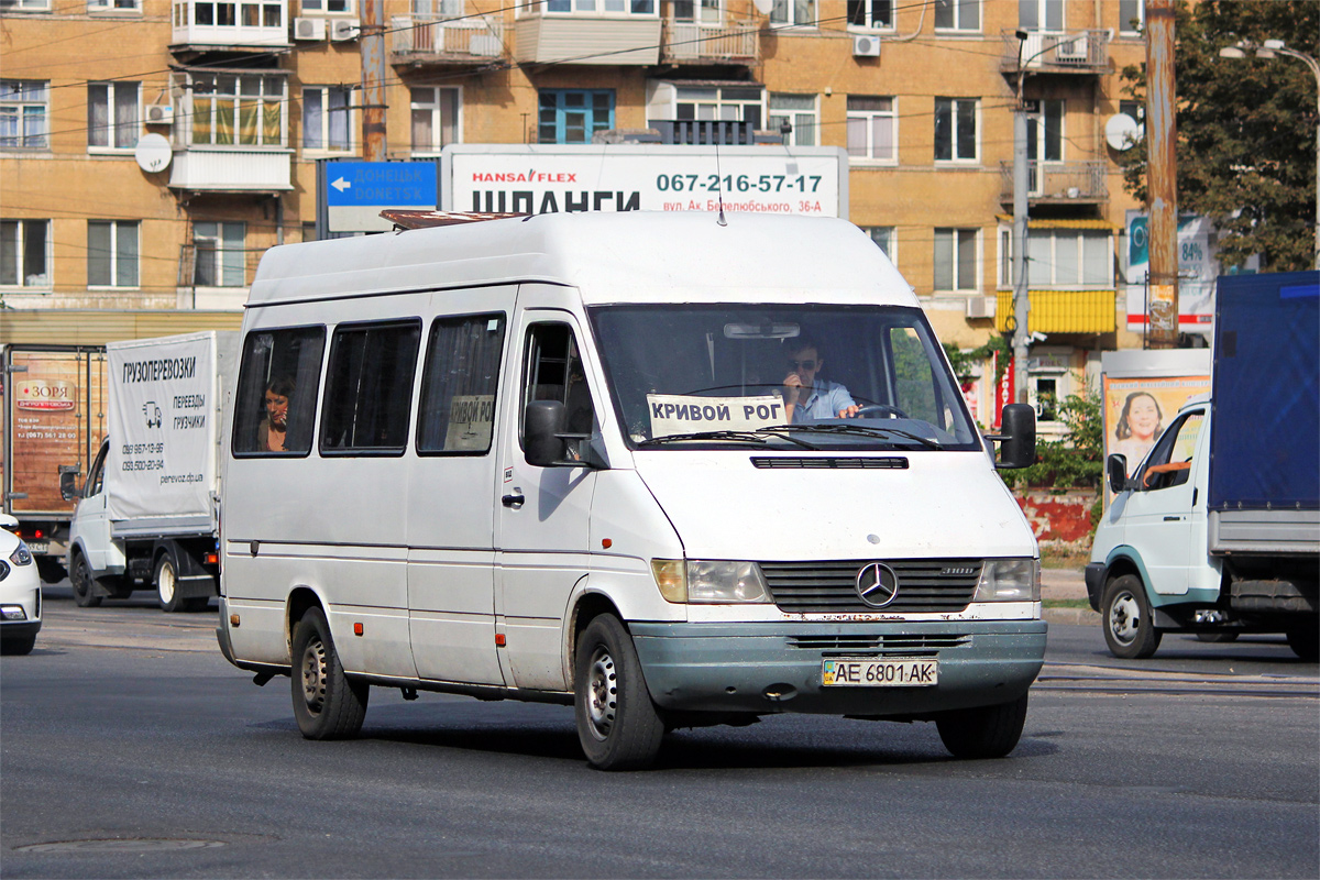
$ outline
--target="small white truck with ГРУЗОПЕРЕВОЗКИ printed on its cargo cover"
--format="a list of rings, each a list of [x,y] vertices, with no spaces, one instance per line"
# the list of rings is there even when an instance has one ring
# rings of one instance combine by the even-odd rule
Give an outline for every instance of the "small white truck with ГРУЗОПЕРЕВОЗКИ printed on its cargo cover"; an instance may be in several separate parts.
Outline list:
[[[153,588],[165,611],[198,611],[218,592],[222,397],[238,334],[193,332],[106,347],[108,437],[79,488],[67,550],[82,607]]]

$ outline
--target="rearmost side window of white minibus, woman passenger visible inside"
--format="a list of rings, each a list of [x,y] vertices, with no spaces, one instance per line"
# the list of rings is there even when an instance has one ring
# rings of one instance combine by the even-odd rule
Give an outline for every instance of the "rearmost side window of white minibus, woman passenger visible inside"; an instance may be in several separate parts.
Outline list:
[[[325,327],[256,330],[243,340],[234,406],[234,454],[312,451]]]

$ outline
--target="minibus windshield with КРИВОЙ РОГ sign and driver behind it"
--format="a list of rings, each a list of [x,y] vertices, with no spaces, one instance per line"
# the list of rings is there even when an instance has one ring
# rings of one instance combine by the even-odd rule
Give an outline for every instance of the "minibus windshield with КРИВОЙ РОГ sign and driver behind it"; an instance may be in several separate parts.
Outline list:
[[[589,309],[632,449],[981,449],[920,309]]]

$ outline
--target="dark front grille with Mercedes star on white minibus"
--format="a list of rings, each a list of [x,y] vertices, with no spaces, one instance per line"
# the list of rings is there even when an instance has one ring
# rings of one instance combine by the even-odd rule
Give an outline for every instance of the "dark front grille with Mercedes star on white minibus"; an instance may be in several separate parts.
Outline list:
[[[857,573],[883,562],[899,579],[898,595],[873,608],[857,594]],[[981,559],[832,559],[762,562],[771,596],[789,613],[950,613],[972,603],[981,581]]]

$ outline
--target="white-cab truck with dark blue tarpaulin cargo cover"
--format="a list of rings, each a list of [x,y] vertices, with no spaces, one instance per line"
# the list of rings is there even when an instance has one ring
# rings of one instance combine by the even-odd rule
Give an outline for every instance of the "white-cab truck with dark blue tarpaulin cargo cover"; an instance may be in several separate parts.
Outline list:
[[[1086,592],[1118,657],[1170,631],[1320,644],[1320,272],[1218,280],[1210,394],[1189,400],[1096,530]]]

